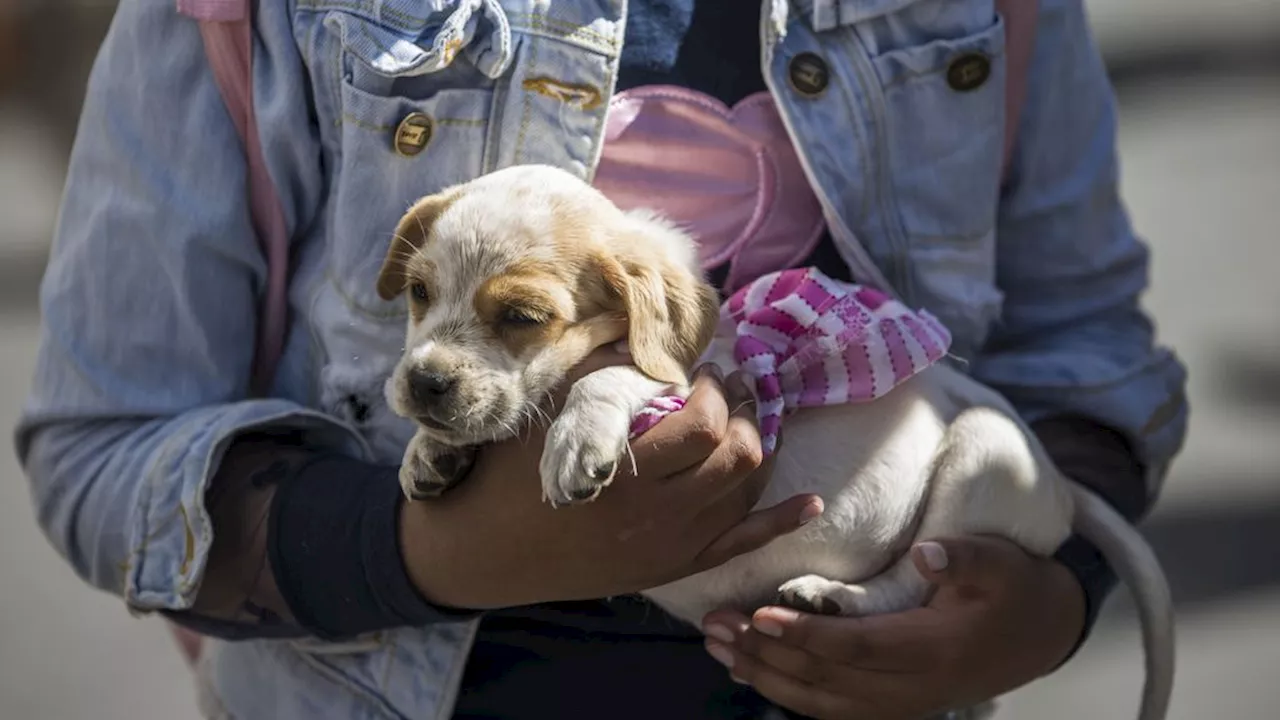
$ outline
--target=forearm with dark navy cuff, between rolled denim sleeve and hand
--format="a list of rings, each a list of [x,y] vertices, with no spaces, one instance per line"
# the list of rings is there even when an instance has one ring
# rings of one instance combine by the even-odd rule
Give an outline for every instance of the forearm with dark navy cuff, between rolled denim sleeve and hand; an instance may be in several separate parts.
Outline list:
[[[428,603],[406,571],[397,468],[246,437],[207,495],[215,541],[204,585],[172,618],[225,638],[325,639],[467,614]]]

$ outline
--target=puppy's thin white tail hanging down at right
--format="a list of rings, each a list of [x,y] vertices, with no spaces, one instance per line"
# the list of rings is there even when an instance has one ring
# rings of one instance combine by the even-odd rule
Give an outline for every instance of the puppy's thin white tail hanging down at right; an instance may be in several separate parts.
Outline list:
[[[1156,553],[1130,523],[1092,491],[1078,483],[1070,486],[1075,532],[1102,552],[1138,607],[1147,664],[1138,720],[1164,720],[1174,691],[1174,606],[1169,582]]]

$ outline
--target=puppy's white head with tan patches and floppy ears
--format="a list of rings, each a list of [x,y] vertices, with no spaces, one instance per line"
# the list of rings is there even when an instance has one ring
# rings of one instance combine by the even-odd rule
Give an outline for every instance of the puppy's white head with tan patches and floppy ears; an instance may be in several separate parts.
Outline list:
[[[718,320],[689,236],[547,167],[492,173],[401,220],[379,295],[408,293],[398,414],[449,445],[511,437],[594,348],[623,337],[687,382]]]

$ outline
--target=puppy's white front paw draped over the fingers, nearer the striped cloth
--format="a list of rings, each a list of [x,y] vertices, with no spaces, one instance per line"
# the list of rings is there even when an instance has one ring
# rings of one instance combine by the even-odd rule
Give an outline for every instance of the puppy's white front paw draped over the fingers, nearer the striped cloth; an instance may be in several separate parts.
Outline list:
[[[553,507],[595,500],[618,471],[630,429],[630,414],[607,402],[566,406],[543,446],[543,497]]]

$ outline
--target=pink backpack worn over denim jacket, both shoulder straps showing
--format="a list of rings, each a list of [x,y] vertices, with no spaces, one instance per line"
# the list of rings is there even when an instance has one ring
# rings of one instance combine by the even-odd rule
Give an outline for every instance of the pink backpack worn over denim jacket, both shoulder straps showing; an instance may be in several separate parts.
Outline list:
[[[248,168],[248,206],[257,243],[268,264],[266,286],[260,300],[260,319],[253,356],[252,391],[266,395],[284,347],[288,324],[289,237],[279,195],[262,156],[253,113],[253,26],[250,0],[177,0],[178,12],[200,22],[200,35],[214,79],[227,111],[244,145]],[[996,0],[1005,19],[1005,168],[1016,138],[1027,74],[1036,38],[1037,0]],[[201,635],[170,625],[183,655],[195,662]]]

